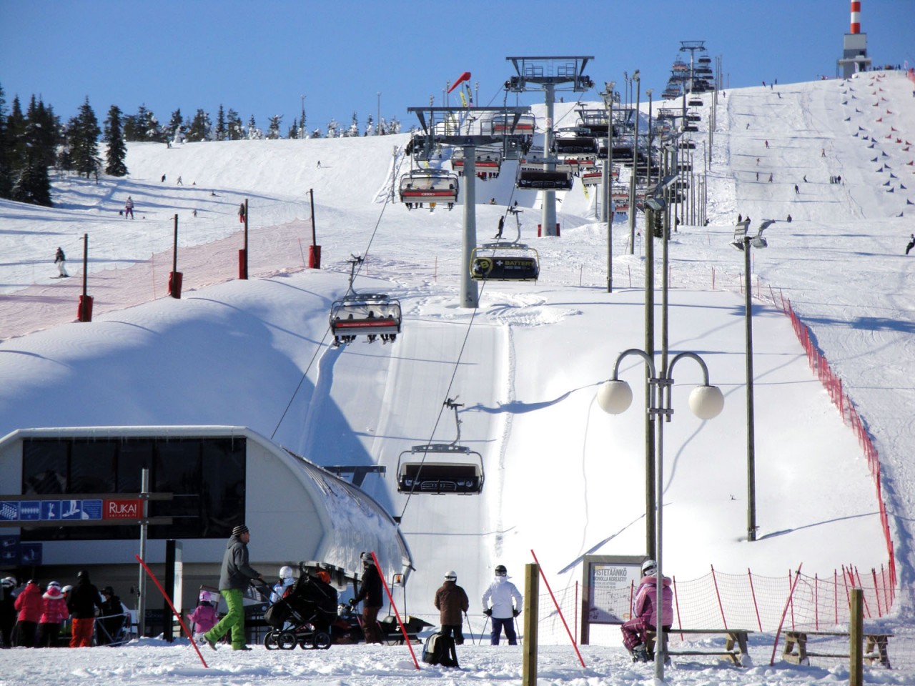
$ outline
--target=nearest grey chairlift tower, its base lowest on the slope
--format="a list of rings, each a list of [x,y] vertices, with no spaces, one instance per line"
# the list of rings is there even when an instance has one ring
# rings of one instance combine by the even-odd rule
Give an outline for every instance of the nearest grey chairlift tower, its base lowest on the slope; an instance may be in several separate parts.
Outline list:
[[[529,107],[408,107],[419,119],[420,132],[411,142],[414,158],[441,156],[443,147],[460,147],[464,156],[464,236],[461,246],[460,306],[479,306],[479,288],[471,278],[472,253],[477,247],[477,173],[479,145],[501,145],[504,159],[518,159],[530,149],[531,136],[516,134],[522,114]],[[493,115],[506,115],[503,125],[493,126]],[[508,122],[508,125],[504,125]]]

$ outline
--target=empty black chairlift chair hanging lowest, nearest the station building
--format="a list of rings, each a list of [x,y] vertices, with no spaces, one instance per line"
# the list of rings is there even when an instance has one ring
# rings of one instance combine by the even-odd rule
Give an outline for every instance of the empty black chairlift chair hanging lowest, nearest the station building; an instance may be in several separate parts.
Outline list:
[[[486,475],[483,456],[460,443],[458,407],[448,399],[445,404],[455,412],[458,437],[452,443],[414,445],[397,457],[397,490],[401,493],[435,495],[473,495],[483,490]]]

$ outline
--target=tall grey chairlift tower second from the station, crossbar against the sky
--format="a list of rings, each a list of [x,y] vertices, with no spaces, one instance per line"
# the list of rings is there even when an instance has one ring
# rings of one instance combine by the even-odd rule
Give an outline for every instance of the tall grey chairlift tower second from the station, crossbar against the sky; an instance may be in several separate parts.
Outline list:
[[[514,65],[516,76],[505,81],[505,88],[511,92],[541,90],[545,93],[546,123],[544,127],[544,171],[554,171],[553,124],[555,91],[583,93],[594,88],[594,81],[584,75],[589,59],[593,57],[508,57]],[[543,219],[541,226],[544,236],[556,235],[556,192],[544,189]]]

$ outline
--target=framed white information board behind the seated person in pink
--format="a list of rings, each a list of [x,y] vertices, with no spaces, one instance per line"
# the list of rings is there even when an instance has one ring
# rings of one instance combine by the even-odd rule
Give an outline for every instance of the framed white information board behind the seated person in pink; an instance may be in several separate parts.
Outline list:
[[[582,637],[587,624],[622,624],[629,621],[631,601],[641,581],[644,556],[586,555],[583,564],[585,607]]]

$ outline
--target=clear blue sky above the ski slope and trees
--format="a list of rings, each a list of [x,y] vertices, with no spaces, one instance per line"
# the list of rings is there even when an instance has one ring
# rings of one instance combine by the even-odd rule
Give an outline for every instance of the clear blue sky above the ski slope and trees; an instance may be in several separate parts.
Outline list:
[[[879,63],[915,64],[915,0],[864,0],[862,31]],[[597,83],[641,73],[660,93],[681,40],[705,40],[726,85],[833,76],[848,0],[0,0],[0,84],[7,107],[41,95],[63,119],[88,95],[100,119],[141,103],[160,122],[180,108],[215,120],[220,104],[258,125],[304,100],[309,130],[371,113],[409,126],[408,107],[470,71],[478,104],[500,104],[508,56],[593,56]],[[379,93],[381,95],[379,96]],[[566,100],[572,96],[565,95]],[[586,96],[597,100],[595,91]],[[451,102],[455,102],[452,96]],[[522,104],[543,94],[522,95]],[[513,96],[511,99],[513,104]]]

